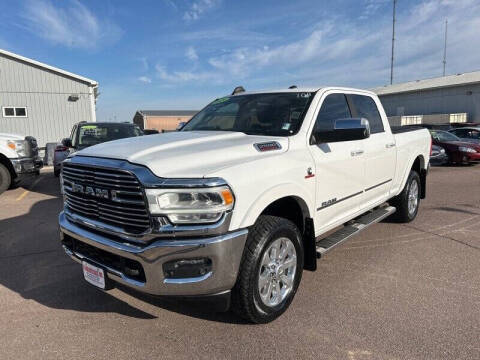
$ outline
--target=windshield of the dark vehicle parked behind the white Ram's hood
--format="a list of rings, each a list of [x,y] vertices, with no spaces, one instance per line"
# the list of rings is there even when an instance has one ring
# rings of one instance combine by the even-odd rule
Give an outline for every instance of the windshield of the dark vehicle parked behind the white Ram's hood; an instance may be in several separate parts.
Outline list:
[[[137,126],[118,124],[83,125],[78,128],[78,147],[100,144],[107,141],[140,136],[142,131]]]

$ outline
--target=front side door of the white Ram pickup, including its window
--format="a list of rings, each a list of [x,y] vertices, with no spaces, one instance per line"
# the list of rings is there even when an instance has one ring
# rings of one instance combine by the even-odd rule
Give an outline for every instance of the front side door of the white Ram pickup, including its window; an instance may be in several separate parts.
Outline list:
[[[335,91],[323,95],[317,111],[311,134],[333,127],[335,120],[352,117],[345,94]],[[364,141],[312,144],[310,138],[316,168],[316,230],[343,223],[358,212],[364,188]]]

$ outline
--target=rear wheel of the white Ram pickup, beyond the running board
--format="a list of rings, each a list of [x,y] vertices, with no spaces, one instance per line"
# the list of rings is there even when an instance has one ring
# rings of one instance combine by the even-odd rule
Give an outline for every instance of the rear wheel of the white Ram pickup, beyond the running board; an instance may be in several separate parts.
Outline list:
[[[393,215],[396,220],[407,223],[415,219],[420,205],[420,190],[420,176],[411,170],[402,192],[390,201],[397,208]]]

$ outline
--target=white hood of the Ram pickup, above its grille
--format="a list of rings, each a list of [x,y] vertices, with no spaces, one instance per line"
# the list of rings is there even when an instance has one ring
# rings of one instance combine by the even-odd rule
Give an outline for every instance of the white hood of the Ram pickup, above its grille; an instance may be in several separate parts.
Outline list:
[[[254,144],[276,141],[281,149],[260,152]],[[288,138],[225,131],[181,131],[111,141],[76,155],[127,160],[166,178],[204,177],[240,162],[288,150]]]

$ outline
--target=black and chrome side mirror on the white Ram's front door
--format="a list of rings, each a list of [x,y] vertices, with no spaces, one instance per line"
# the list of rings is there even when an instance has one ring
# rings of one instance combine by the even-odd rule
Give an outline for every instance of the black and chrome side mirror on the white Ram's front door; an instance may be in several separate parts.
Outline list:
[[[321,129],[313,133],[312,144],[363,140],[370,137],[370,125],[365,118],[337,119],[332,129]]]

